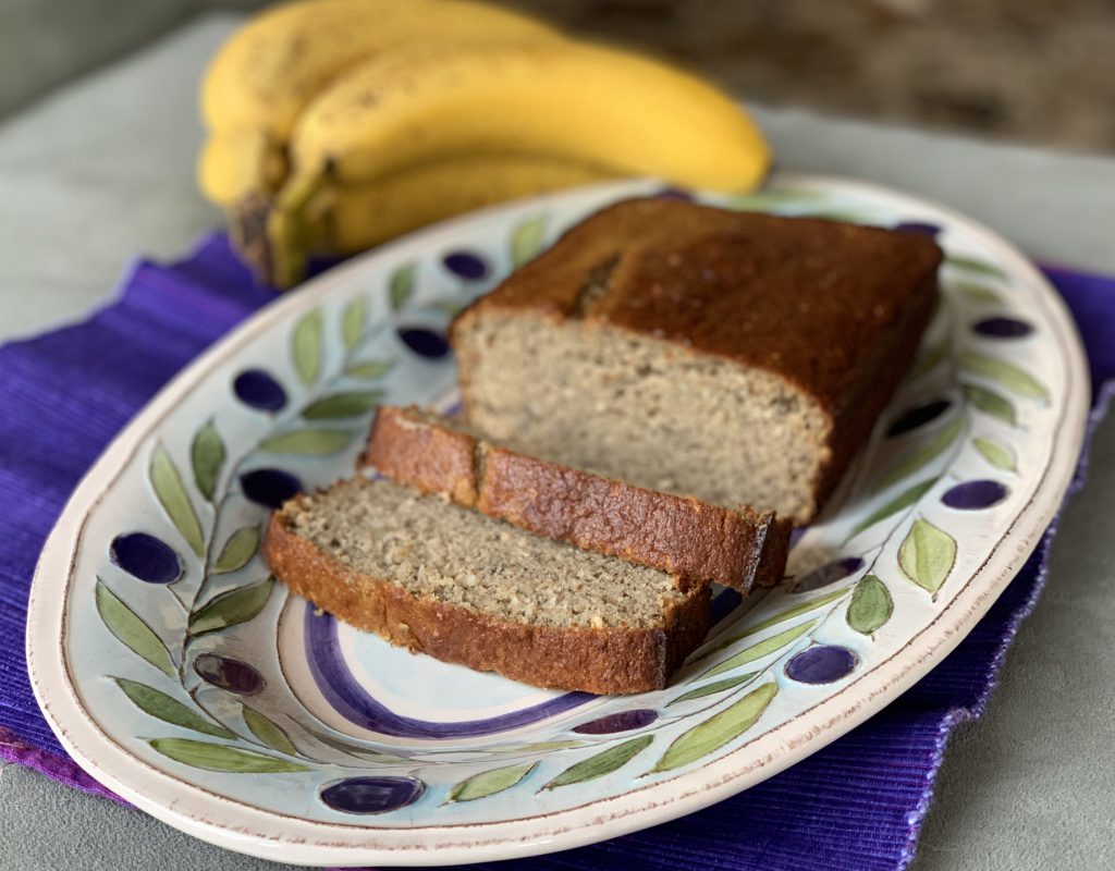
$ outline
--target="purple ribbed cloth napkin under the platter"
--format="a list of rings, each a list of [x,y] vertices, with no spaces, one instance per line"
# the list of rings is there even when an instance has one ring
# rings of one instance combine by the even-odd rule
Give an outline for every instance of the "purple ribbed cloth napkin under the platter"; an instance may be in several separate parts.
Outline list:
[[[1115,280],[1064,269],[1047,273],[1088,351],[1094,426],[1115,377]],[[23,625],[35,562],[74,486],[120,427],[178,369],[271,299],[225,238],[214,235],[181,262],[138,263],[119,299],[86,322],[0,348],[0,504],[7,514],[0,536],[0,758],[115,799],[66,756],[31,695]],[[1078,482],[1083,472],[1082,462]],[[949,735],[982,713],[1018,625],[1041,592],[1051,536],[1053,529],[951,656],[808,759],[685,819],[498,868],[904,868]]]

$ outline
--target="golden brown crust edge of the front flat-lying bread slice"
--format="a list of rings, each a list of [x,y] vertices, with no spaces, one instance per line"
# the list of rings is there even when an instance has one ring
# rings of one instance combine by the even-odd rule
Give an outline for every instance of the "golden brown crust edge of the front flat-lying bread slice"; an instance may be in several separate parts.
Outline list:
[[[285,513],[271,516],[263,555],[291,591],[347,623],[446,662],[554,689],[598,694],[662,689],[708,631],[702,585],[670,609],[662,629],[547,627],[515,623],[361,574],[292,532]]]

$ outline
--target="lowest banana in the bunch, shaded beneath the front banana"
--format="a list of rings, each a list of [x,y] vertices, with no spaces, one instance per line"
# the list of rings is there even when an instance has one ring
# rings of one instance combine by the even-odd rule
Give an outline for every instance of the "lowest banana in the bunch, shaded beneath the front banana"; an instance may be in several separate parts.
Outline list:
[[[363,251],[474,209],[613,175],[553,157],[476,154],[356,187],[322,183],[287,188],[281,205],[266,217],[268,250],[261,265],[273,284],[289,287],[301,278],[311,253]]]

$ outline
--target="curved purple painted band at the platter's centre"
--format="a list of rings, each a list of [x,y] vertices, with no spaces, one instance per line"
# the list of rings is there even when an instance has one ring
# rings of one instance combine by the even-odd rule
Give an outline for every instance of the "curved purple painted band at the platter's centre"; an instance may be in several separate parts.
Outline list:
[[[337,620],[328,613],[317,617],[314,610],[312,604],[307,603],[306,656],[318,689],[333,709],[347,720],[381,735],[400,738],[467,738],[493,735],[539,723],[599,698],[591,693],[566,693],[510,714],[459,723],[405,717],[377,701],[360,686],[341,655]]]

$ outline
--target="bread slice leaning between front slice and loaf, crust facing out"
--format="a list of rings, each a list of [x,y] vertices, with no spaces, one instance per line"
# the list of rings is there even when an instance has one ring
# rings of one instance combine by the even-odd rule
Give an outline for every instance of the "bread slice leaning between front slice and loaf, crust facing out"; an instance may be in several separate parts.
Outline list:
[[[643,490],[493,444],[418,408],[380,407],[360,459],[539,535],[747,592],[782,580],[789,524]]]

